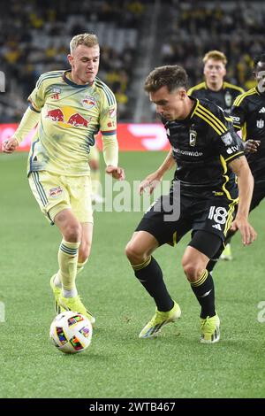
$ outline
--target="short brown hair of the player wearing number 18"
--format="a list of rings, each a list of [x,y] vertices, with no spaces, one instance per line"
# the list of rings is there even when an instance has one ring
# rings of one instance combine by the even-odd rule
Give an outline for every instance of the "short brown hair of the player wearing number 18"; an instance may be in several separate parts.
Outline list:
[[[149,73],[144,89],[147,92],[155,92],[162,87],[167,87],[170,92],[178,88],[187,89],[187,80],[186,70],[182,66],[158,66]]]

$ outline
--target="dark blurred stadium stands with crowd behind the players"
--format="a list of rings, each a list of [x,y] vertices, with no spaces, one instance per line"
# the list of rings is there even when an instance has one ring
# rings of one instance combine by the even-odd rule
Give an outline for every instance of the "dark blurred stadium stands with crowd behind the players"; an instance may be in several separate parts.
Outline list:
[[[193,86],[202,80],[204,53],[218,49],[228,58],[226,80],[249,89],[264,27],[264,1],[2,0],[0,122],[20,120],[41,73],[68,68],[73,35],[98,35],[99,76],[117,97],[119,121],[149,122],[155,115],[142,84],[150,69],[184,65]]]

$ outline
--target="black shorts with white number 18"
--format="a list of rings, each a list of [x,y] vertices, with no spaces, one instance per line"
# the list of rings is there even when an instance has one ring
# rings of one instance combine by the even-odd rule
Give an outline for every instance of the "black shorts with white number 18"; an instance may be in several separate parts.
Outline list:
[[[174,193],[161,196],[145,213],[135,231],[147,231],[160,245],[175,245],[190,230],[218,235],[222,242],[235,216],[236,200],[225,197],[198,199]],[[174,206],[175,213],[169,207]],[[178,205],[178,206],[177,206]],[[178,216],[176,215],[178,214]],[[170,220],[170,215],[174,215]]]

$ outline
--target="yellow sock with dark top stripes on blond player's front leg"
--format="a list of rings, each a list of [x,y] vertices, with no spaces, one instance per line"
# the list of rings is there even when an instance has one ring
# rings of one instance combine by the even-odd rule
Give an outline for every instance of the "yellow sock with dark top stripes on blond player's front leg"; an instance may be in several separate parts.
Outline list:
[[[75,289],[75,278],[79,256],[80,243],[62,241],[58,251],[59,274],[63,289]]]

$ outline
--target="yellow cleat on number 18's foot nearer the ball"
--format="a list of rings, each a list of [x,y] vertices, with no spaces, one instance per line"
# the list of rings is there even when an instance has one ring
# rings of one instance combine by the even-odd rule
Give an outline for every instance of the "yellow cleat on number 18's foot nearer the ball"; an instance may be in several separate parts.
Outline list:
[[[140,331],[139,338],[152,338],[161,332],[164,325],[178,320],[181,315],[180,307],[176,302],[169,312],[159,312],[155,310],[155,315],[148,324]]]

